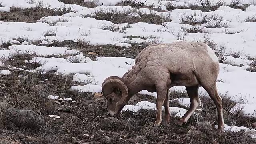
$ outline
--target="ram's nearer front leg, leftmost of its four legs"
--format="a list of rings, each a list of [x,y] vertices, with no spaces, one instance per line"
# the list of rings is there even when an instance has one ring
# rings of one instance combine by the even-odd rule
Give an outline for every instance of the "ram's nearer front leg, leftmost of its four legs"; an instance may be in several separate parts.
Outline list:
[[[162,106],[164,104],[164,100],[166,99],[167,86],[166,84],[158,84],[156,85],[156,122],[157,126],[162,122]]]

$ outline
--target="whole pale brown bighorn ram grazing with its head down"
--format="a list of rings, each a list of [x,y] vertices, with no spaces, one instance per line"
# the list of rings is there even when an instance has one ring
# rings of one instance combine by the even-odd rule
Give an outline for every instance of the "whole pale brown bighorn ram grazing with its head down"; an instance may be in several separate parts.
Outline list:
[[[170,122],[169,88],[185,86],[191,105],[177,122],[182,125],[198,108],[198,88],[202,86],[217,107],[218,131],[222,131],[222,98],[216,86],[218,74],[218,58],[207,44],[189,41],[152,44],[138,54],[135,65],[122,78],[106,78],[102,83],[102,93],[106,98],[108,115],[116,116],[134,94],[142,90],[156,92],[155,124],[158,126],[162,121],[162,106],[166,115],[164,120]]]

